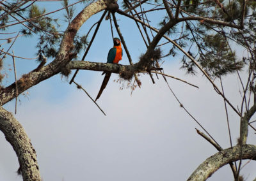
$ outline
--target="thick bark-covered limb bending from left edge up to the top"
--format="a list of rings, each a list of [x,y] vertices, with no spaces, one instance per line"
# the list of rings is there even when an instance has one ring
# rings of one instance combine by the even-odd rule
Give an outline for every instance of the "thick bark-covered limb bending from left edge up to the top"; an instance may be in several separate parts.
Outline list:
[[[72,48],[74,47],[74,36],[80,29],[81,25],[83,25],[88,18],[92,17],[92,15],[104,10],[106,7],[104,0],[100,0],[86,6],[86,8],[84,8],[84,10],[82,10],[74,20],[72,20],[65,31],[56,59],[38,71],[31,71],[30,73],[23,75],[22,78],[17,81],[18,95],[37,83],[60,73],[61,69],[63,69],[74,57],[70,52],[72,52]],[[15,96],[16,86],[15,83],[12,83],[12,85],[9,85],[0,91],[0,106],[8,103],[8,101],[15,98]]]

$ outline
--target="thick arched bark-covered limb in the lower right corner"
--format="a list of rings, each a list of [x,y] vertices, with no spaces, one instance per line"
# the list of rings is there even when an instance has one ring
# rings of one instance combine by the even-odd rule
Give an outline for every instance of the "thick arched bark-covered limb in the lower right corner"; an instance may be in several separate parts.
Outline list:
[[[243,145],[242,159],[256,160],[256,146],[255,145]],[[240,145],[233,148],[227,148],[207,158],[204,163],[200,164],[198,168],[188,178],[189,181],[202,181],[211,177],[212,173],[220,169],[225,164],[240,159]]]

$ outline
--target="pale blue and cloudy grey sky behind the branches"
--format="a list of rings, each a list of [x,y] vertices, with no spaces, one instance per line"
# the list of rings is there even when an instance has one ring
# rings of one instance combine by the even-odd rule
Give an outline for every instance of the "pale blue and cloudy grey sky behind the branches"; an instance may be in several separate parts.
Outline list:
[[[93,17],[93,20],[99,19],[99,16]],[[131,48],[132,59],[136,62],[145,51],[145,46],[136,38],[137,30],[128,28],[131,26],[127,19],[120,16],[118,19]],[[84,25],[83,28],[90,26]],[[113,46],[109,40],[109,22],[104,21],[86,61],[106,62],[108,50]],[[24,40],[20,39],[14,47],[17,55],[22,55],[22,51],[29,46],[35,48],[32,43],[22,47],[22,43],[24,45]],[[196,89],[168,78],[173,92],[189,112],[221,147],[230,147],[223,99],[200,73],[189,76],[180,70],[180,57],[168,57],[163,61],[166,74],[200,87]],[[126,55],[120,63],[128,64]],[[36,66],[18,59],[17,65],[18,68],[20,66],[19,75]],[[9,83],[12,82],[11,76]],[[180,108],[161,76],[157,80],[154,75],[156,84],[153,84],[148,75],[141,74],[141,89],[135,89],[132,96],[131,89],[120,90],[122,83],[127,85],[127,82],[113,82],[117,78],[118,75],[111,75],[108,86],[97,101],[107,116],[83,91],[77,90],[74,84],[69,85],[60,75],[32,87],[24,92],[26,96],[20,96],[15,118],[35,147],[43,180],[186,180],[199,164],[217,152],[196,133],[195,127],[200,131],[202,128]],[[76,77],[76,82],[93,98],[97,96],[102,80],[100,72],[92,71],[79,71]],[[237,76],[224,78],[223,82],[228,99],[240,106]],[[14,112],[15,101],[4,108]],[[239,137],[239,117],[230,108],[228,112],[235,145]],[[256,144],[255,135],[250,129],[248,143]],[[15,152],[3,133],[0,133],[0,145],[0,180],[22,180],[15,173],[19,168]],[[255,169],[255,162],[250,162],[241,173],[246,180],[253,180]],[[232,171],[225,166],[209,180],[233,180]]]

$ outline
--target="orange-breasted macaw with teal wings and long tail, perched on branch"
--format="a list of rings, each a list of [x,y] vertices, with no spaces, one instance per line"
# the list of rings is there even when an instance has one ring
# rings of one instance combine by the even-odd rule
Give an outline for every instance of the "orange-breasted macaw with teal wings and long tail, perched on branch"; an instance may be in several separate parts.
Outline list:
[[[118,64],[119,61],[122,60],[122,56],[123,56],[123,51],[122,51],[122,47],[121,47],[121,41],[119,40],[119,38],[114,38],[114,47],[111,48],[108,52],[108,61],[107,63],[112,63],[112,64]],[[95,99],[95,101],[97,101],[97,99],[100,98],[100,95],[102,93],[102,91],[106,88],[106,85],[108,84],[109,78],[111,76],[111,72],[103,72],[102,75],[105,75],[104,80],[102,82],[102,85],[100,87],[100,91],[98,93],[97,98]]]

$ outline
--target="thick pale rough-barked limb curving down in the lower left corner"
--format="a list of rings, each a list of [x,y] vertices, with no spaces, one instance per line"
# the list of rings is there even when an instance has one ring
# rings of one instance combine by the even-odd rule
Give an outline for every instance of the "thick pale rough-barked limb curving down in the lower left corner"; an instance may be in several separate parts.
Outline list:
[[[0,130],[17,154],[23,180],[41,180],[36,152],[28,135],[12,113],[2,107],[0,107]]]

